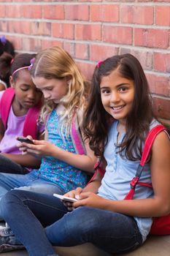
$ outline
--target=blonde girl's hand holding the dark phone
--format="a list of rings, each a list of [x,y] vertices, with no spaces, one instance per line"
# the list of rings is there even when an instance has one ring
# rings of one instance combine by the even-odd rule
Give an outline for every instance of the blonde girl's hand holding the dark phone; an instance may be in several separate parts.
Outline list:
[[[51,156],[56,151],[56,146],[46,140],[33,140],[34,144],[20,143],[20,150],[23,154],[31,153],[39,157]]]

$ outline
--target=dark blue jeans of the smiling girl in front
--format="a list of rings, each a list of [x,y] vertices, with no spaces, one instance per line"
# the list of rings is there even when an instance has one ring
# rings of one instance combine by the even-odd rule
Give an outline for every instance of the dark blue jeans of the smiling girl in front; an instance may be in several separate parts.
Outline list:
[[[29,255],[50,255],[50,243],[74,246],[90,242],[111,253],[128,252],[142,244],[133,217],[90,207],[69,212],[61,200],[50,195],[12,190],[1,200],[1,213]]]

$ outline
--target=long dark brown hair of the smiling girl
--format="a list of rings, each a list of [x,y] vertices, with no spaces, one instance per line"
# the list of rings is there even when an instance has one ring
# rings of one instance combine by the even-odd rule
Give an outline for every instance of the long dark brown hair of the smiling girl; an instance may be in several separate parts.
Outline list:
[[[118,69],[123,78],[134,81],[134,102],[126,121],[126,134],[119,148],[119,153],[128,159],[140,159],[142,144],[150,129],[153,118],[152,99],[147,78],[139,61],[131,54],[112,56],[97,66],[93,73],[88,108],[85,112],[83,129],[85,138],[90,140],[90,148],[101,157],[107,143],[110,116],[101,102],[101,78]]]

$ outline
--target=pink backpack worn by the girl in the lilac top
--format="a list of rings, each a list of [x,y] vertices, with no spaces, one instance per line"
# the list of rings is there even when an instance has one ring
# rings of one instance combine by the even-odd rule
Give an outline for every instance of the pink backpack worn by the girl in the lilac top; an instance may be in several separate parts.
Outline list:
[[[7,129],[7,120],[9,116],[9,110],[12,105],[12,100],[15,97],[15,90],[11,87],[4,91],[4,94],[1,97],[0,111],[1,111],[1,120],[4,124],[4,129]],[[23,126],[23,136],[31,135],[32,138],[36,139],[36,124],[39,118],[39,111],[42,107],[42,102],[39,102],[33,108],[28,110],[26,115],[26,120]]]

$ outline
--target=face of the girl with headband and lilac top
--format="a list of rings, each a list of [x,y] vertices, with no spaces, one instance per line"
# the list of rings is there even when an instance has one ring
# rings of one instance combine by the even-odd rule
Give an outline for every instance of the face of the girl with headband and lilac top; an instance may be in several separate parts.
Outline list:
[[[11,79],[12,86],[15,88],[15,99],[18,104],[25,109],[32,108],[42,98],[42,92],[36,89],[27,69],[18,71],[18,78]]]

